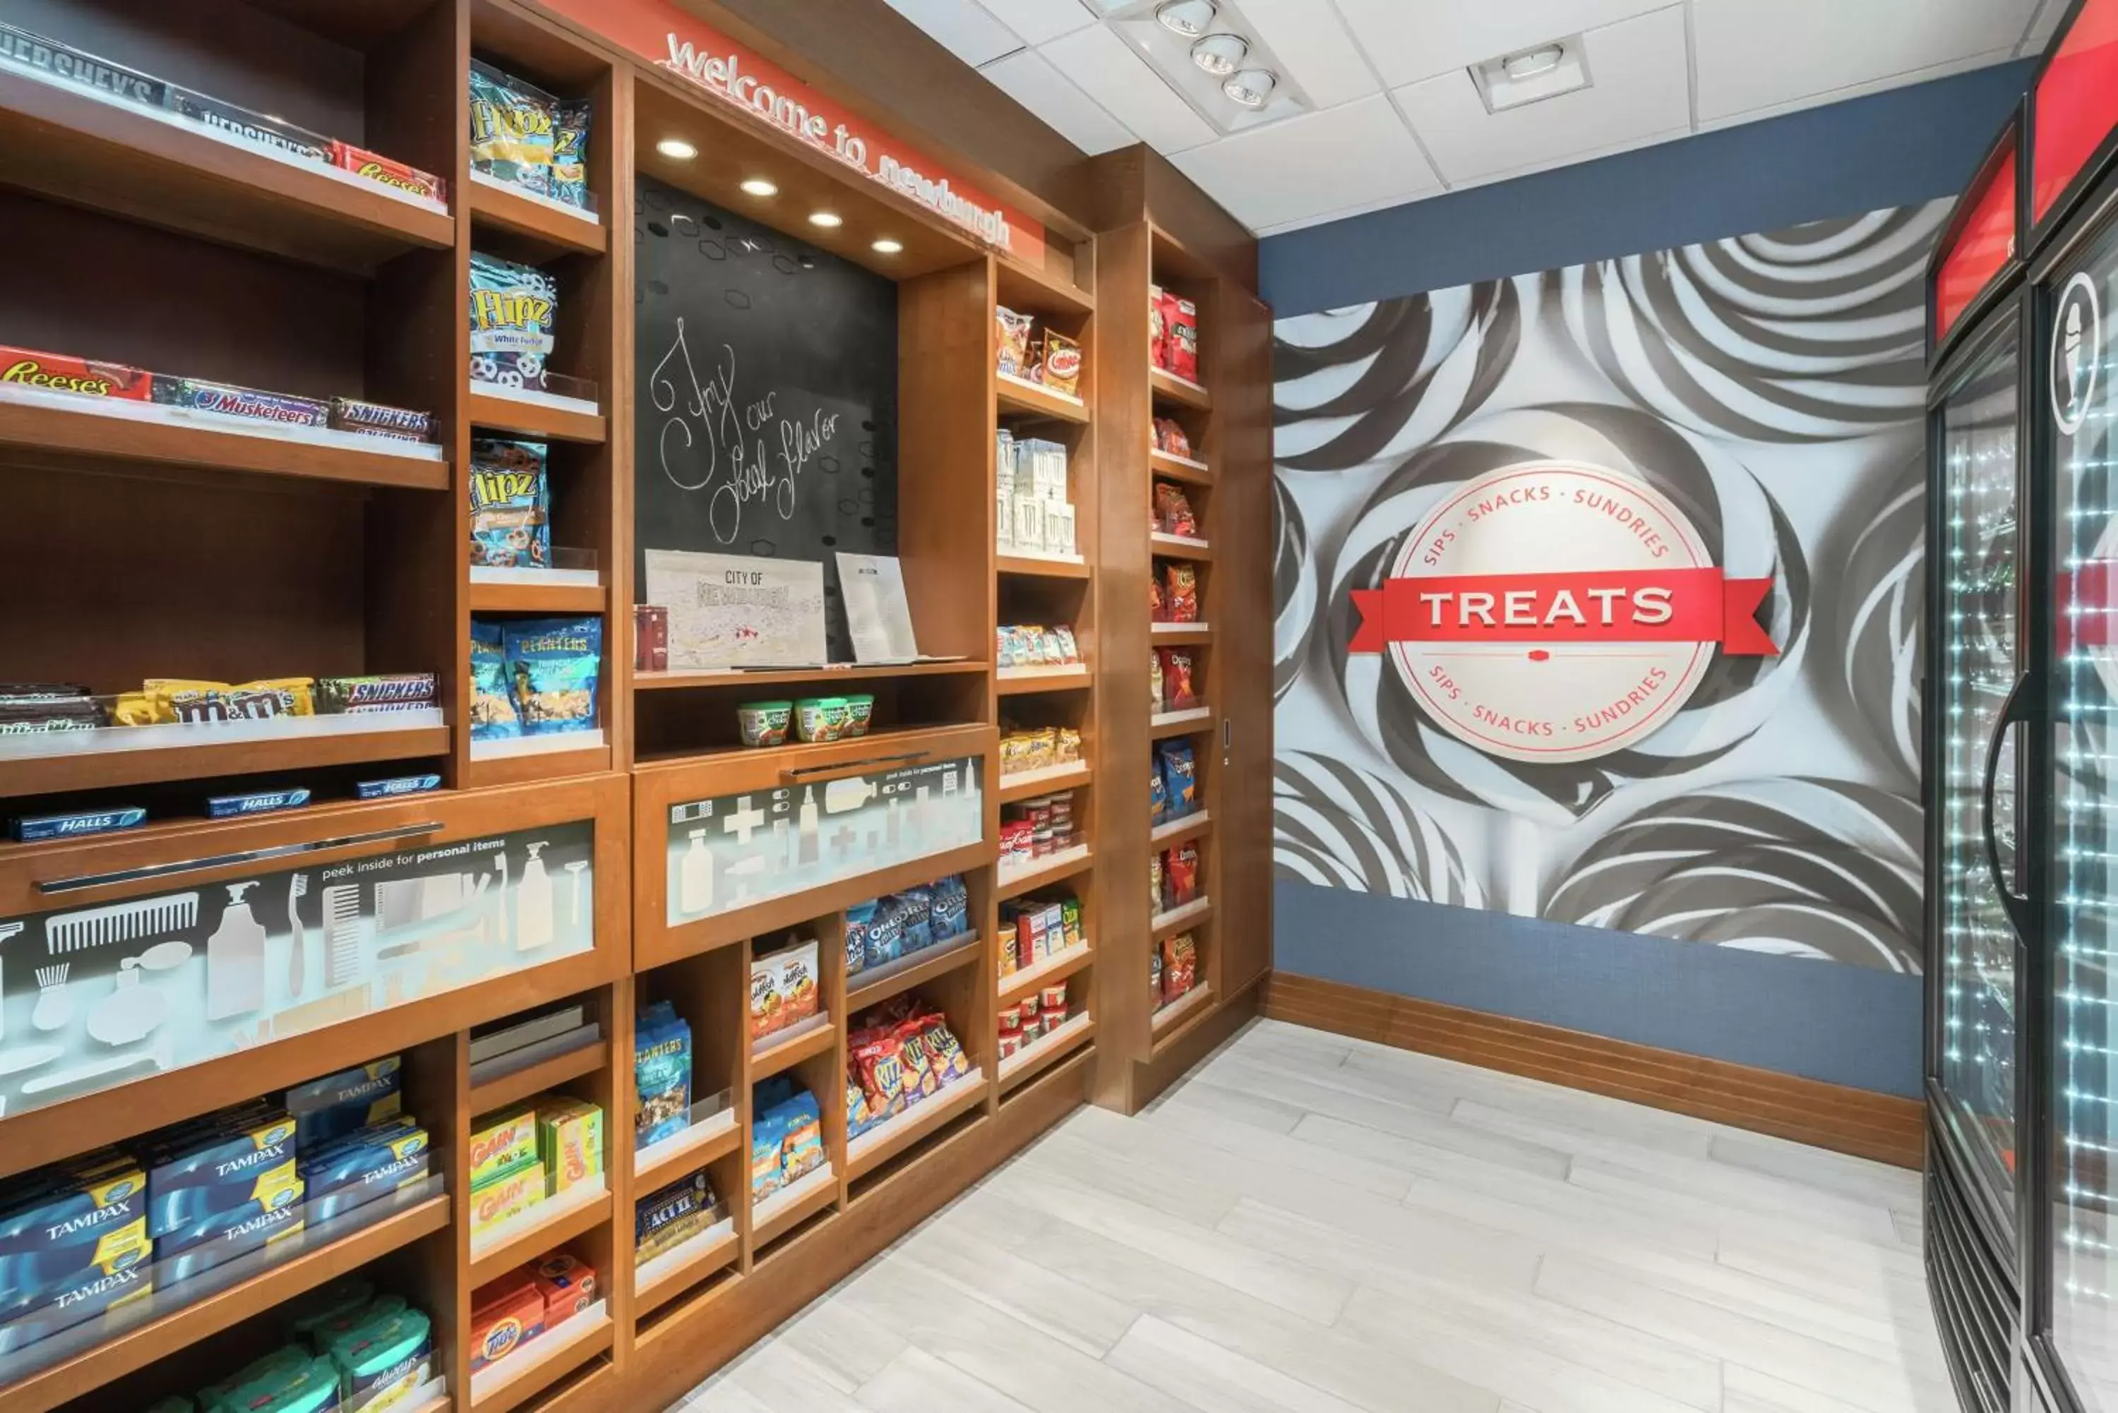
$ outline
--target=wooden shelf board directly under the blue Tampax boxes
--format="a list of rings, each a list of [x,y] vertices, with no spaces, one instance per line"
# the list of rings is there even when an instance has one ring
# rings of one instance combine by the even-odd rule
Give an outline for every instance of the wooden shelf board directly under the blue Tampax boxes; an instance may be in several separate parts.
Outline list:
[[[436,1174],[0,1358],[0,1407],[55,1409],[447,1224]]]

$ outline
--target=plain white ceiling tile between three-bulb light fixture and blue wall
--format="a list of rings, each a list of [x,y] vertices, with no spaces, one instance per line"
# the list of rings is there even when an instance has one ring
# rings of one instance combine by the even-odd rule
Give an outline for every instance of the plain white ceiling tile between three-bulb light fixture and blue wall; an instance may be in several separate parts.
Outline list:
[[[1254,231],[1362,203],[1387,205],[1440,184],[1381,93],[1171,161]]]

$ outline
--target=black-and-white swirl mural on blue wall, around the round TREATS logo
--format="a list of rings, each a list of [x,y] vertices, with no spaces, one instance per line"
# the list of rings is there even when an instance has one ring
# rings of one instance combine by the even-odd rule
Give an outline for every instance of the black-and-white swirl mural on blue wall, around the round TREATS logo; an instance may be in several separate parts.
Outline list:
[[[1917,972],[1923,269],[1942,218],[1883,210],[1281,320],[1281,877]],[[1716,650],[1658,729],[1588,758],[1444,729],[1402,661],[1351,650],[1366,595],[1417,578],[1413,532],[1468,485],[1538,466],[1665,498],[1722,578],[1764,580],[1775,652]],[[1540,574],[1487,534],[1493,572]]]

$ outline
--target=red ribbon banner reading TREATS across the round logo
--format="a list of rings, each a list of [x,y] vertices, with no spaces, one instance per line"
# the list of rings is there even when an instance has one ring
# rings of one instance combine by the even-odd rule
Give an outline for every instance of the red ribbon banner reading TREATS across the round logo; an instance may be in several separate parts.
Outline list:
[[[1771,589],[1771,578],[1720,570],[1392,578],[1353,591],[1353,652],[1394,642],[1718,642],[1733,657],[1779,657],[1758,627]]]

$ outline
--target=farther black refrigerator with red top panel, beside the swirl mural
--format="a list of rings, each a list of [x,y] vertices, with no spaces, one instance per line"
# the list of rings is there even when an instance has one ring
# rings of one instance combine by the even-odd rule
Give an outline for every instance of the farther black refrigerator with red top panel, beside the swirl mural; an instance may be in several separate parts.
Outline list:
[[[2021,119],[2018,119],[2021,121]],[[2025,314],[2018,121],[1929,267],[1927,1288],[1963,1409],[2008,1413],[2031,934],[2021,769]]]

